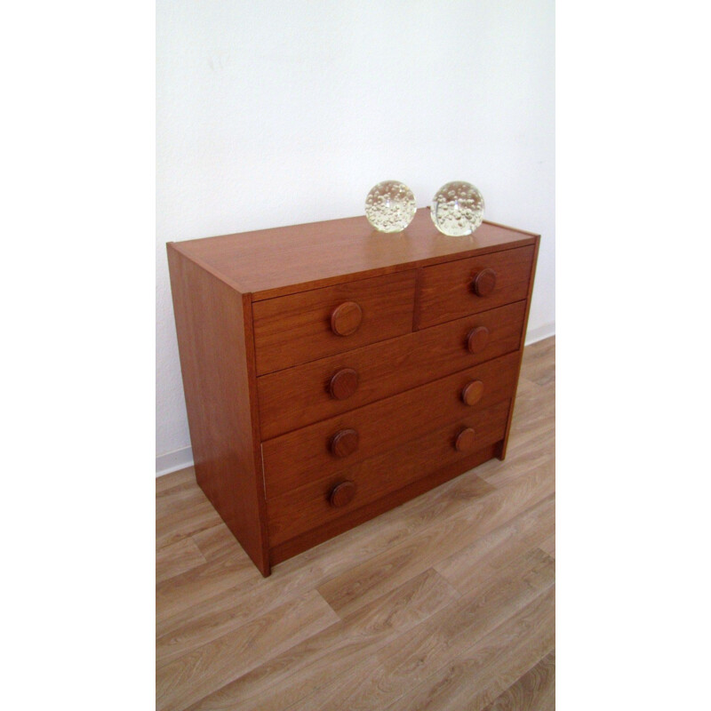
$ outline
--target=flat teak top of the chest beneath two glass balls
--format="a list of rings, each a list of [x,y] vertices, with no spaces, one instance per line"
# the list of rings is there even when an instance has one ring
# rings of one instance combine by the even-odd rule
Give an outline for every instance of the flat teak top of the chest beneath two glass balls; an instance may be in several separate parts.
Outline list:
[[[170,243],[253,300],[534,244],[537,235],[491,222],[474,234],[442,235],[429,208],[401,233],[375,231],[364,216]]]

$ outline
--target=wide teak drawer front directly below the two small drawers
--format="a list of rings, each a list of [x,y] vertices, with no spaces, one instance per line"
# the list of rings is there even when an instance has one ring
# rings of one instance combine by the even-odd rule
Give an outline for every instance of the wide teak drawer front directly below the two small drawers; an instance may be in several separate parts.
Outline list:
[[[518,350],[526,302],[322,358],[257,380],[262,439]]]

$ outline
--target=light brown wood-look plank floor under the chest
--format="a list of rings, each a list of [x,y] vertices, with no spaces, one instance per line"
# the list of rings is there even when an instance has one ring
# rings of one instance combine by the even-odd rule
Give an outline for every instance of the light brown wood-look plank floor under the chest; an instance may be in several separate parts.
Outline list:
[[[555,707],[555,338],[507,459],[262,578],[192,467],[156,479],[158,709]]]

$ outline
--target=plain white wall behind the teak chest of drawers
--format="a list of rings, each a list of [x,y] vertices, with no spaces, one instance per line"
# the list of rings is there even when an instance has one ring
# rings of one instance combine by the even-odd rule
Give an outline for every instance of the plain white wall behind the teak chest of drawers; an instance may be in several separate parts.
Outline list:
[[[529,333],[555,328],[553,0],[158,0],[156,468],[189,463],[165,243],[419,207],[448,180],[542,235]]]

